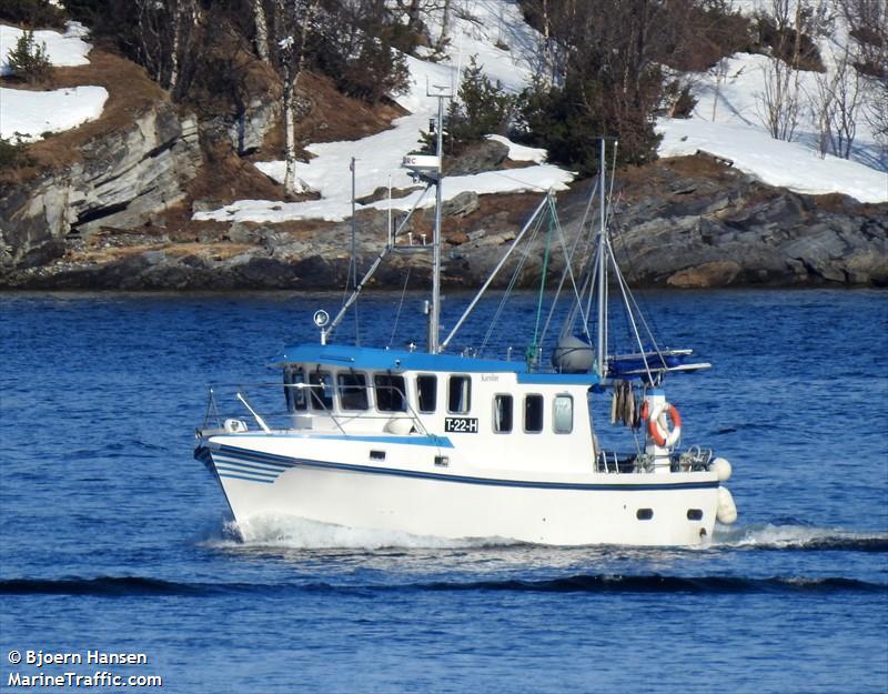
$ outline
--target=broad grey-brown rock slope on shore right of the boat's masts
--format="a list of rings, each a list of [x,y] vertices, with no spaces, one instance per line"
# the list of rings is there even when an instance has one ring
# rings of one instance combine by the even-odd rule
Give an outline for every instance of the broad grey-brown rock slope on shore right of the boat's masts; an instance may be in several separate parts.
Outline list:
[[[614,244],[637,283],[888,286],[888,204],[801,195],[733,169],[690,178],[673,171],[679,161],[617,205]],[[566,202],[569,229],[585,202]]]

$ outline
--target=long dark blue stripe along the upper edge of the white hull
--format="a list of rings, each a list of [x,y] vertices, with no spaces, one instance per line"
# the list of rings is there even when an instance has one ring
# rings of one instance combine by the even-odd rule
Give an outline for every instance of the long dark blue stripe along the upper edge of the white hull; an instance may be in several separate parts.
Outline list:
[[[660,484],[620,484],[620,483],[574,483],[574,482],[536,482],[531,480],[502,480],[488,477],[470,477],[465,475],[448,475],[435,472],[421,472],[413,470],[400,470],[394,467],[374,467],[372,465],[353,465],[350,463],[333,463],[329,461],[317,461],[301,457],[287,457],[273,453],[254,453],[244,449],[236,449],[228,445],[220,445],[220,453],[224,456],[232,456],[249,462],[263,462],[270,459],[286,463],[289,466],[299,465],[303,467],[316,467],[324,470],[342,470],[347,472],[360,472],[365,474],[384,474],[400,477],[413,477],[420,480],[434,480],[436,482],[452,482],[458,484],[477,484],[484,486],[506,486],[522,489],[542,490],[577,490],[577,491],[602,491],[602,492],[650,492],[650,491],[679,491],[696,489],[715,489],[718,481],[712,482],[673,482]],[[255,455],[255,457],[254,457]],[[263,480],[264,481],[264,480]]]

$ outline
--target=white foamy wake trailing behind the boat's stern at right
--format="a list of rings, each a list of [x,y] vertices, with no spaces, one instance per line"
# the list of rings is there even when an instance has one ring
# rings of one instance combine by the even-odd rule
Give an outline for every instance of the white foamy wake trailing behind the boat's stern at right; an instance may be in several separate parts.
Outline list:
[[[716,526],[714,549],[888,552],[888,533],[860,533],[801,523]]]

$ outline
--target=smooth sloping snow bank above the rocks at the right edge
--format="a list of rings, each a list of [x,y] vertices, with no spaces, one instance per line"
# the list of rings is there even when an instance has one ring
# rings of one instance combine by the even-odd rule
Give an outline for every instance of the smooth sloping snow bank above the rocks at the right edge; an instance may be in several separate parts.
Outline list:
[[[861,202],[888,201],[888,173],[859,162],[827,155],[795,142],[737,124],[699,119],[660,119],[662,157],[682,157],[704,150],[734,161],[734,165],[769,185],[800,193],[844,193]]]

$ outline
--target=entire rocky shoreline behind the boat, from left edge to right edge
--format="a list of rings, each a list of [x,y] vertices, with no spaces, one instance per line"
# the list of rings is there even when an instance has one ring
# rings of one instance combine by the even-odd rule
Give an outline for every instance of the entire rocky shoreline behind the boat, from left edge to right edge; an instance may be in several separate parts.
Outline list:
[[[271,117],[252,114],[260,143]],[[190,185],[208,165],[208,142],[229,140],[242,154],[238,123],[199,123],[160,102],[128,129],[95,138],[79,160],[0,189],[0,289],[239,290],[340,289],[345,282],[351,221],[249,224],[195,222],[213,204]],[[235,141],[236,140],[236,141]],[[500,145],[502,147],[502,145]],[[496,143],[456,165],[508,167]],[[243,165],[243,164],[240,164]],[[251,168],[252,169],[252,168]],[[888,203],[775,189],[700,152],[617,173],[617,255],[637,285],[888,286]],[[559,195],[562,228],[577,233],[589,181]],[[444,210],[445,286],[480,285],[538,195],[463,193]],[[357,254],[364,269],[382,250],[387,218],[359,211]],[[432,212],[408,231],[431,235]],[[519,284],[537,284],[545,234],[529,252]],[[549,268],[563,262],[552,245]],[[428,253],[394,254],[374,284],[402,288],[406,269],[420,285]],[[498,280],[507,282],[508,268]]]

